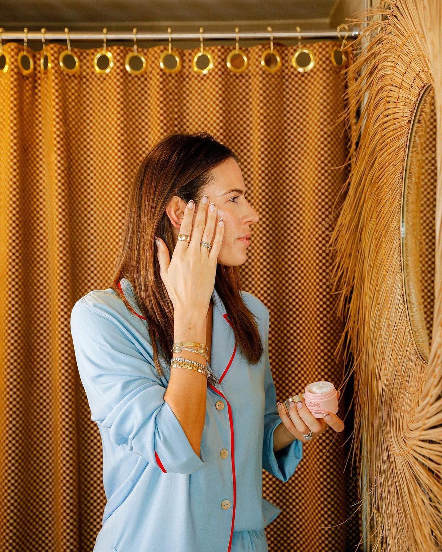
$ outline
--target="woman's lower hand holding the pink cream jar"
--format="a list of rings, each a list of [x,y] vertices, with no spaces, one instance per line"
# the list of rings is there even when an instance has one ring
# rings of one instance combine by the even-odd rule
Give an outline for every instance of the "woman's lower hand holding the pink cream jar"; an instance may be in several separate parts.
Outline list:
[[[341,392],[338,391],[338,399]],[[308,410],[305,402],[303,400],[296,402],[291,402],[290,407],[290,417],[287,416],[285,408],[282,406],[280,402],[278,402],[278,412],[280,415],[280,418],[288,430],[294,437],[296,437],[298,440],[302,441],[303,443],[308,443],[309,441],[306,440],[305,437],[302,436],[302,434],[307,435],[312,431],[312,440],[320,435],[321,433],[324,433],[325,429],[327,429],[327,426],[330,426],[334,431],[337,433],[340,433],[344,429],[344,422],[336,416],[336,414],[332,414],[331,412],[328,412],[328,416],[330,416],[330,420],[327,420],[327,418],[315,418],[313,414]],[[301,408],[298,408],[297,405],[301,404]]]

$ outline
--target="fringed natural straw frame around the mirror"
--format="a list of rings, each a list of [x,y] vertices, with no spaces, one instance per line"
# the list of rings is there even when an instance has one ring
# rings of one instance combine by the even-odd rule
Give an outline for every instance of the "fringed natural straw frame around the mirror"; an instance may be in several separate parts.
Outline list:
[[[331,279],[354,354],[355,444],[374,550],[442,549],[442,2],[385,0],[351,19],[346,46],[351,169],[330,238]],[[368,22],[368,24],[367,24]],[[435,301],[428,364],[409,333],[401,268],[402,177],[415,104],[433,83],[437,116]],[[356,121],[357,109],[360,109]],[[350,294],[352,290],[352,294]],[[350,297],[351,295],[351,297]],[[345,357],[347,352],[345,352]],[[361,452],[364,440],[364,456]],[[361,539],[362,540],[362,539]]]

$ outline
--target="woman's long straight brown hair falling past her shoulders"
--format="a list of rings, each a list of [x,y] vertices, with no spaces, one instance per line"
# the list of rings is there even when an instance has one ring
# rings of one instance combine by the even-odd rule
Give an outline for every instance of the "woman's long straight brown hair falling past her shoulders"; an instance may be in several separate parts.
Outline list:
[[[128,278],[140,314],[146,319],[153,360],[164,375],[159,354],[170,363],[173,344],[173,305],[160,276],[154,245],[155,236],[164,240],[172,257],[176,238],[165,209],[174,195],[183,201],[194,200],[196,207],[202,188],[209,182],[209,171],[219,163],[238,157],[207,132],[173,134],[157,142],[141,162],[130,190],[122,239],[114,274],[109,283],[131,310],[118,287]],[[241,297],[239,267],[217,264],[215,289],[224,301],[236,343],[251,364],[261,358],[263,347],[255,315]]]

